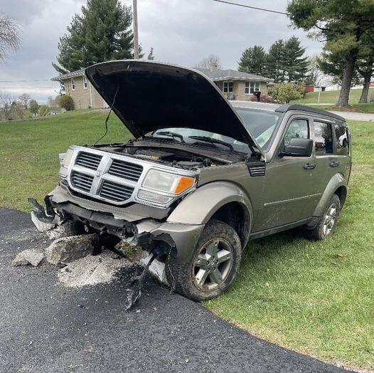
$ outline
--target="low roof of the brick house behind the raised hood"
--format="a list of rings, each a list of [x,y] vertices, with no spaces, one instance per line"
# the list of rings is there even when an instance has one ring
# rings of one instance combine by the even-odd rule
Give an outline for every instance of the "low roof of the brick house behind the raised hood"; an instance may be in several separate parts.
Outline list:
[[[261,75],[255,75],[250,73],[243,73],[242,71],[237,70],[210,70],[208,68],[195,68],[195,70],[200,71],[201,73],[205,74],[210,78],[210,80],[213,81],[220,81],[220,80],[259,80],[259,81],[266,81],[266,82],[272,82],[273,79],[265,78],[265,76]],[[55,78],[52,78],[51,80],[58,82],[60,80],[66,80],[69,78],[74,78],[75,76],[82,76],[85,75],[85,69],[82,70],[76,70],[72,71],[71,73],[66,73],[60,76],[56,76]]]

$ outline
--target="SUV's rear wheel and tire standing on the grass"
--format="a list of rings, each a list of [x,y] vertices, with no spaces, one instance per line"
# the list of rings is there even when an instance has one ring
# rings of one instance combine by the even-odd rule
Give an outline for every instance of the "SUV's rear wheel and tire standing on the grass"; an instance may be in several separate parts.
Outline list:
[[[336,209],[336,211],[333,211],[333,215],[331,215],[332,209]],[[341,201],[336,194],[333,194],[330,201],[328,201],[328,204],[326,205],[326,209],[324,214],[321,216],[319,224],[317,224],[316,227],[310,231],[307,231],[308,237],[312,240],[323,240],[327,236],[331,236],[331,234],[335,232],[336,226],[338,225],[340,211]],[[333,218],[331,218],[331,216],[333,216]]]

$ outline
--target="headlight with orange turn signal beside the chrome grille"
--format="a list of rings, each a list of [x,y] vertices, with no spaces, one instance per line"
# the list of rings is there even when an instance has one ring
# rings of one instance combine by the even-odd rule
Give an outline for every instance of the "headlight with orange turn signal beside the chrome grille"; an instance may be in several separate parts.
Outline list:
[[[156,204],[167,204],[178,194],[191,189],[194,184],[194,177],[186,177],[151,169],[141,184],[138,198]]]

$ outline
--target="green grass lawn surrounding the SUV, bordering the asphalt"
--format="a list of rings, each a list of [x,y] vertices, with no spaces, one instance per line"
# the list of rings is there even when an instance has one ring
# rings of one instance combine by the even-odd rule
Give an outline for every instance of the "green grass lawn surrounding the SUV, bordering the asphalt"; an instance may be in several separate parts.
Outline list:
[[[58,181],[58,153],[92,144],[105,113],[0,123],[0,206],[30,211]],[[374,368],[374,125],[350,122],[353,172],[338,231],[312,242],[297,231],[251,241],[233,287],[205,303],[259,337],[328,362]],[[107,141],[129,133],[112,117]]]

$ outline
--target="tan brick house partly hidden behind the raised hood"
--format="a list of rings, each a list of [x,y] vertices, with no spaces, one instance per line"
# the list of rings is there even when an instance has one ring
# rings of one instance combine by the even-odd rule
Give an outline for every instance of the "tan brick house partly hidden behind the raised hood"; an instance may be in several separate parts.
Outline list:
[[[272,83],[272,79],[264,76],[242,73],[237,70],[221,70],[196,68],[213,80],[215,85],[223,91],[226,98],[235,100],[250,101],[254,92],[260,91],[267,94],[267,86]],[[85,77],[85,70],[77,70],[71,73],[63,74],[52,78],[55,82],[60,82],[65,88],[65,94],[73,98],[75,109],[84,109],[87,107],[102,108],[108,107],[107,103],[101,98],[97,90],[91,85]]]

